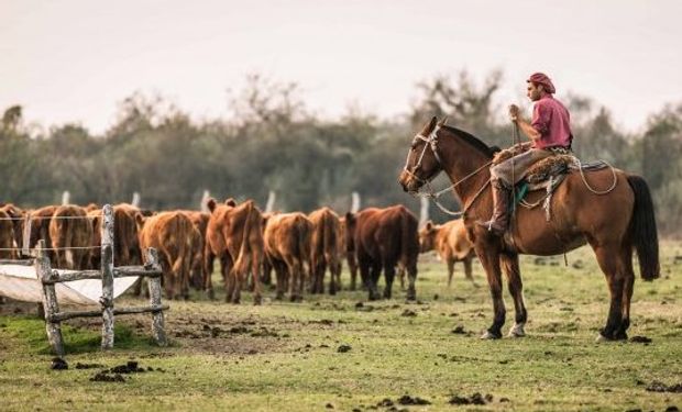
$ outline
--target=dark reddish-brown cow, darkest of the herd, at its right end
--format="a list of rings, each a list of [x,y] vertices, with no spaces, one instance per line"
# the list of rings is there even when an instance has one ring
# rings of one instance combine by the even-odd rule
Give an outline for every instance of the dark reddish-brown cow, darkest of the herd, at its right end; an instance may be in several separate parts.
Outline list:
[[[361,278],[370,290],[370,300],[380,299],[376,283],[384,270],[384,298],[391,299],[396,266],[407,269],[407,299],[415,300],[419,238],[417,218],[403,205],[370,208],[345,215],[346,238],[355,250]]]

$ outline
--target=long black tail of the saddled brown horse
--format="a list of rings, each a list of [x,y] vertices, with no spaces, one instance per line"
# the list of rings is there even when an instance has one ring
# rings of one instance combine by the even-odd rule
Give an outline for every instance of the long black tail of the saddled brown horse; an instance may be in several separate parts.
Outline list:
[[[630,175],[627,181],[635,192],[635,210],[630,220],[630,236],[639,258],[639,271],[644,280],[653,280],[659,277],[661,268],[651,192],[649,191],[649,186],[640,176]]]

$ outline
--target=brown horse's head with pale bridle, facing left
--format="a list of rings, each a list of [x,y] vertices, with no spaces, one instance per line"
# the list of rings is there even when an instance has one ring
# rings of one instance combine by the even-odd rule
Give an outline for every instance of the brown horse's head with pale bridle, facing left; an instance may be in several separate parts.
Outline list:
[[[405,167],[398,178],[403,190],[416,192],[433,179],[443,168],[438,155],[438,131],[447,119],[438,121],[436,116],[418,133],[407,152]]]

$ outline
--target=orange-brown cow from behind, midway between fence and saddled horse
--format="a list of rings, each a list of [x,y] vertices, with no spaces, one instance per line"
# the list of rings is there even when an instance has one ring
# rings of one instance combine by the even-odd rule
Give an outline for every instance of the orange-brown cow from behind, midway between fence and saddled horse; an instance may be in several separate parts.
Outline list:
[[[284,298],[288,285],[292,302],[302,300],[306,267],[310,258],[312,223],[305,214],[282,213],[267,220],[263,241],[265,254],[277,276],[276,299]]]

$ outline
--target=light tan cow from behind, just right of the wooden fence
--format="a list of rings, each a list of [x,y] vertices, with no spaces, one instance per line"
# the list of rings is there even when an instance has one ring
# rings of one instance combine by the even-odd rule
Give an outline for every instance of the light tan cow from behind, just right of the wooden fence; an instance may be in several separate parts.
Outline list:
[[[136,216],[142,250],[154,247],[164,272],[166,298],[189,297],[189,268],[196,231],[183,212],[162,212],[150,218]]]

